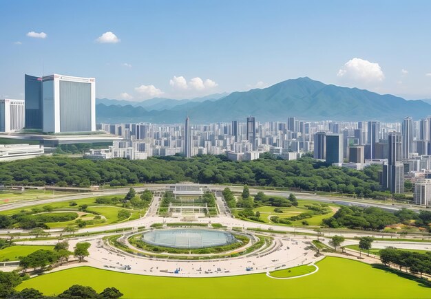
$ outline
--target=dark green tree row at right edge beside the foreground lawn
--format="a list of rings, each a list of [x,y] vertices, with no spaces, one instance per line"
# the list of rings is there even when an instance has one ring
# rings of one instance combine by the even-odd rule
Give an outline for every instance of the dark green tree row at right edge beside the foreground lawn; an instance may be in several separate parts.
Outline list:
[[[418,252],[408,252],[388,247],[380,250],[380,261],[384,265],[395,265],[400,270],[405,268],[413,274],[431,275],[431,252],[421,254]]]

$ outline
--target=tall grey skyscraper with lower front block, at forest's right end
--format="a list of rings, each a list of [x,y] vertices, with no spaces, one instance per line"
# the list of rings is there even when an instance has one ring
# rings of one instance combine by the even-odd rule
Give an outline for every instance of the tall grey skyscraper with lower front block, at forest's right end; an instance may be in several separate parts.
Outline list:
[[[404,165],[401,163],[402,135],[388,134],[388,162],[383,164],[382,185],[392,193],[404,192]]]

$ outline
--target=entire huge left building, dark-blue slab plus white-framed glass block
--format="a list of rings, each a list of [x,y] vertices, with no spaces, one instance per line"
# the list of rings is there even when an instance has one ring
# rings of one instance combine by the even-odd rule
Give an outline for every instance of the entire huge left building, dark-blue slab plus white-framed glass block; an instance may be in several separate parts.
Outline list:
[[[25,75],[25,127],[44,132],[96,130],[94,78]]]

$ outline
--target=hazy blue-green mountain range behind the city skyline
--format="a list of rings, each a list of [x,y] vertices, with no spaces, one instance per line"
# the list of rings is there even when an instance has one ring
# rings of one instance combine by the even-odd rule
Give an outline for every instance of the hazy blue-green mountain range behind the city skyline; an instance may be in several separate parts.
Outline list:
[[[96,121],[108,123],[192,123],[303,120],[400,121],[431,114],[422,100],[405,100],[364,89],[326,85],[308,77],[286,80],[264,89],[218,94],[191,100],[155,98],[143,102],[97,100]]]

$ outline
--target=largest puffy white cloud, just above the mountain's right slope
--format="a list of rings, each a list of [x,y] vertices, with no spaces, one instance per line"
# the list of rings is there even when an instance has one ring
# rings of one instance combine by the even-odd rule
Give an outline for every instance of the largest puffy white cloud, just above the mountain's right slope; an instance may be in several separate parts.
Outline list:
[[[381,82],[385,78],[379,63],[371,63],[361,58],[348,60],[339,69],[337,76],[347,81],[361,83]]]

